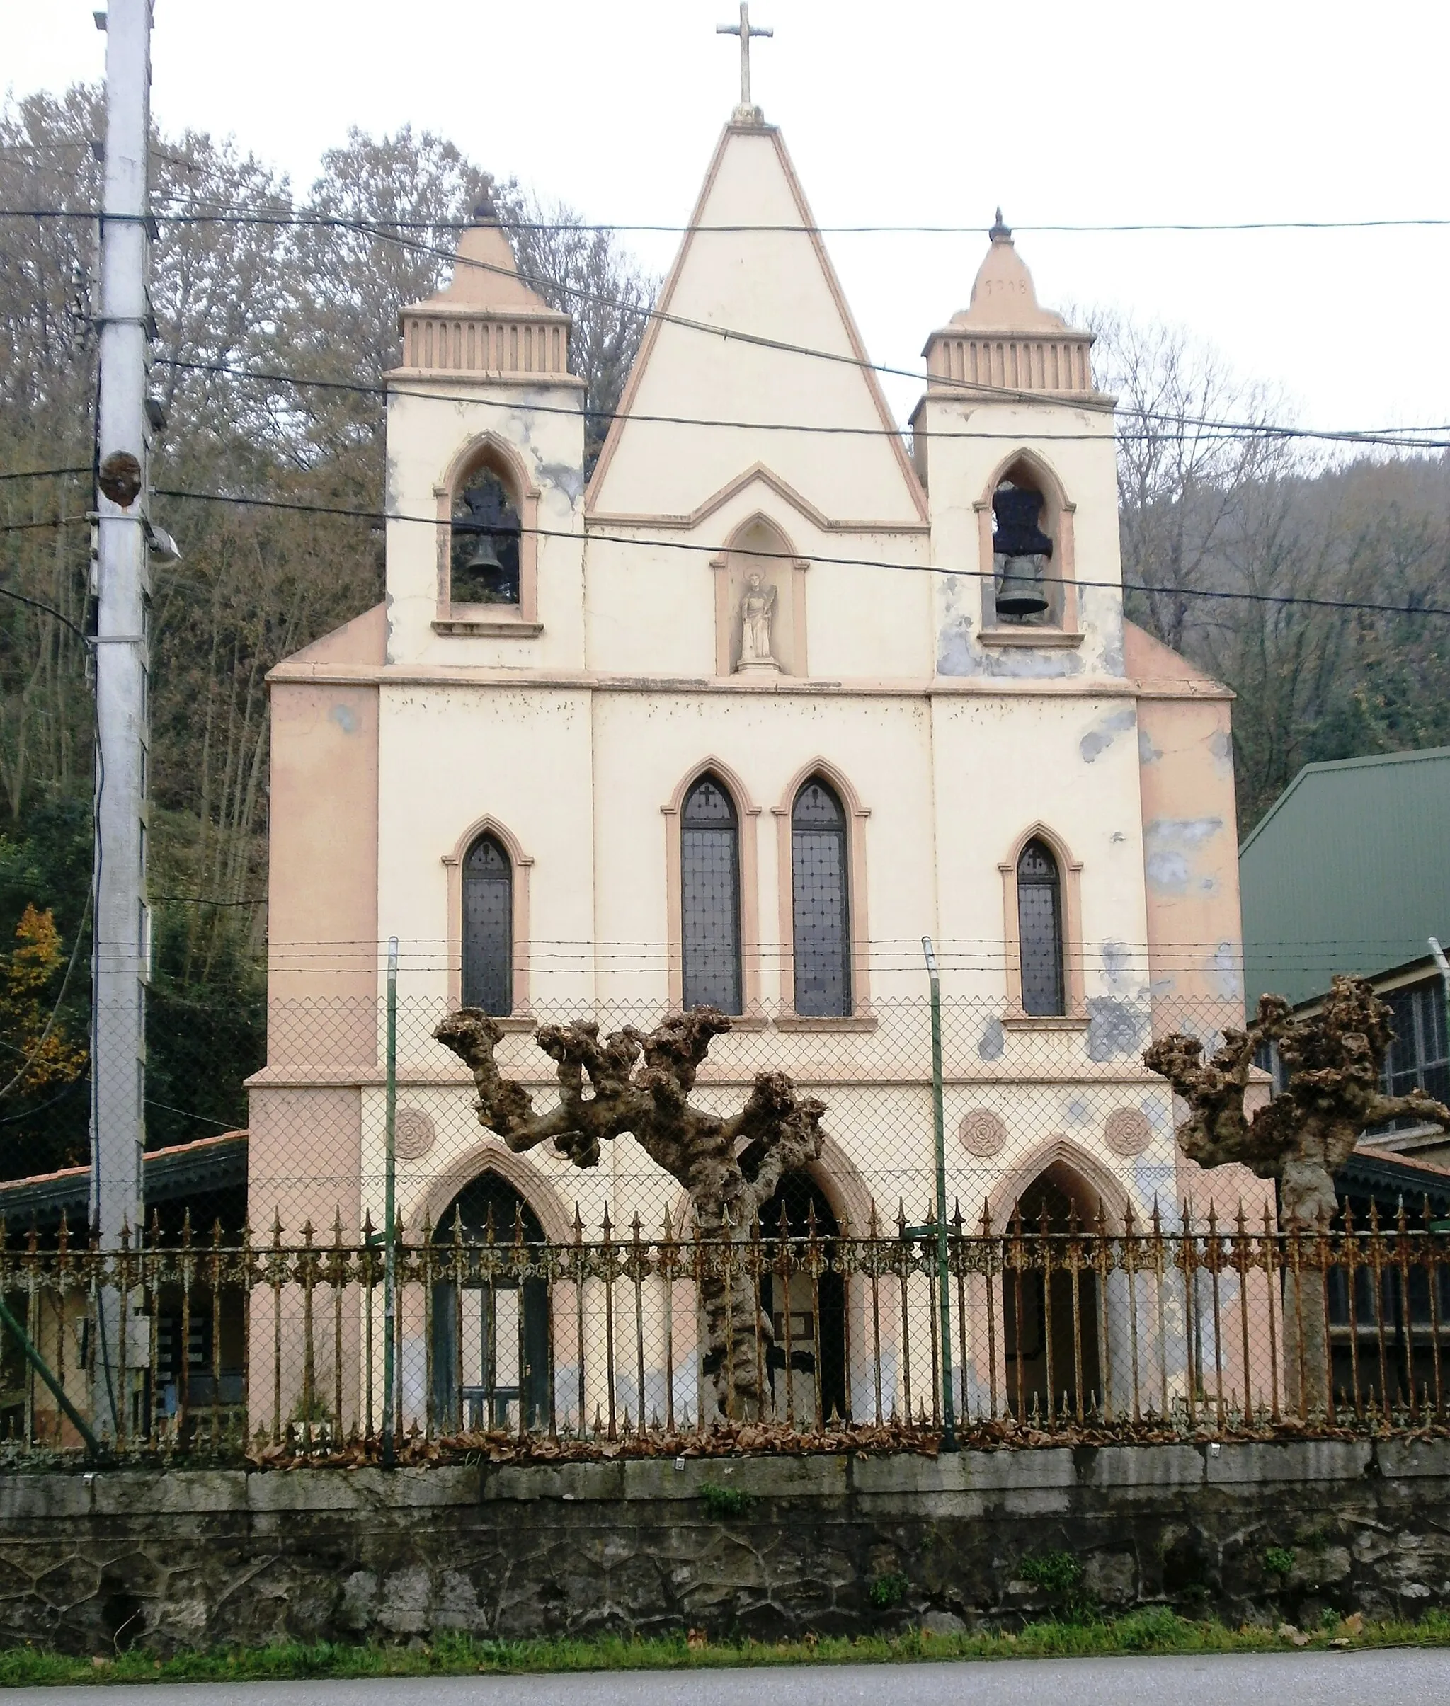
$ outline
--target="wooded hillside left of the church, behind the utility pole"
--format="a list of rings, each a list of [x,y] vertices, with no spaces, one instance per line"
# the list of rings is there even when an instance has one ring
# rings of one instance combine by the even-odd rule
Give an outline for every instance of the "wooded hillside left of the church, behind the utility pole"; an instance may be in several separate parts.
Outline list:
[[[94,208],[90,140],[102,131],[89,89],[5,109],[0,208]],[[188,131],[157,138],[152,184],[162,227],[152,391],[167,415],[155,486],[375,514],[379,375],[394,363],[397,309],[445,280],[457,242],[447,222],[467,218],[484,171],[438,136],[353,133],[299,196],[234,145]],[[575,316],[597,442],[653,281],[568,208],[512,183],[495,184],[493,198],[505,218],[548,227],[519,232],[519,259]],[[229,218],[239,212],[276,222]],[[288,223],[293,212],[328,223]],[[358,220],[382,230],[358,230]],[[75,471],[0,479],[0,589],[36,601],[0,597],[0,1059],[14,1063],[0,1071],[0,1175],[85,1155],[92,703],[75,630],[92,502],[94,246],[90,220],[0,218],[0,473]],[[263,1058],[264,677],[379,601],[382,531],[367,519],[183,498],[157,498],[154,510],[181,546],[179,563],[152,570],[147,1131],[159,1145],[246,1117],[241,1082]],[[63,525],[48,525],[55,517]],[[68,1051],[49,1063],[43,1051],[7,1085],[63,983],[53,1036]]]

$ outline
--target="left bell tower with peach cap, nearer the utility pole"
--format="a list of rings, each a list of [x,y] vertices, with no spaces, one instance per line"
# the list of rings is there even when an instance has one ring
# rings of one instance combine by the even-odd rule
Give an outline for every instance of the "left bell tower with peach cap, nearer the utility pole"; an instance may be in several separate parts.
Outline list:
[[[389,662],[578,667],[583,380],[484,196],[387,379]]]

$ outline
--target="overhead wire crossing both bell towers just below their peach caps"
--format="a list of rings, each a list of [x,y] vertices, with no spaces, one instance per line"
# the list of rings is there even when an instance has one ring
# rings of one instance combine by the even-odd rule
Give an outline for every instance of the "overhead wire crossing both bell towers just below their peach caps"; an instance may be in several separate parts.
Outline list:
[[[316,389],[316,391],[345,391],[357,396],[375,396],[386,397],[391,394],[406,394],[409,397],[428,397],[435,403],[457,403],[457,392],[428,391],[409,380],[404,380],[397,387],[367,384],[357,379],[307,379],[300,374],[281,374],[271,370],[256,370],[246,367],[229,367],[225,362],[183,362],[174,357],[160,357],[155,362],[157,367],[171,367],[183,372],[196,374],[227,374],[232,379],[251,379],[258,384],[278,384],[278,386],[297,386],[299,389]],[[918,375],[921,377],[921,375]],[[502,397],[471,397],[471,404],[481,404],[484,408],[510,409],[517,411],[519,404],[510,399]],[[531,415],[568,415],[578,416],[578,409],[565,408],[561,404],[549,403],[529,403]],[[1138,416],[1138,409],[1124,409],[1128,416]],[[640,415],[629,411],[628,415],[619,409],[583,409],[589,420],[626,420],[641,421],[647,425],[658,426],[722,426],[737,428],[740,432],[798,432],[798,433],[817,433],[824,437],[858,437],[858,438],[901,438],[904,428],[896,426],[827,426],[805,421],[744,421],[744,420],[711,420],[696,415]],[[1198,420],[1186,415],[1143,415],[1141,418],[1151,420],[1170,420],[1174,425],[1194,426],[1215,438],[1223,438],[1228,442],[1257,440],[1257,438],[1314,438],[1329,440],[1336,444],[1372,444],[1385,445],[1399,450],[1445,450],[1450,449],[1450,437],[1443,442],[1424,437],[1406,437],[1406,433],[1450,433],[1450,425],[1438,426],[1385,426],[1385,428],[1358,428],[1358,426],[1337,426],[1337,428],[1310,428],[1310,426],[1278,426],[1271,423],[1245,425],[1245,426],[1220,426],[1215,421]],[[1102,433],[1044,433],[1044,440],[1053,440],[1056,444],[1100,444]],[[1150,440],[1160,437],[1158,433],[1134,433],[1117,430],[1116,438],[1119,440]],[[931,438],[986,438],[986,440],[1012,440],[1013,444],[1022,442],[1022,433],[1012,432],[974,432],[971,428],[933,428]]]

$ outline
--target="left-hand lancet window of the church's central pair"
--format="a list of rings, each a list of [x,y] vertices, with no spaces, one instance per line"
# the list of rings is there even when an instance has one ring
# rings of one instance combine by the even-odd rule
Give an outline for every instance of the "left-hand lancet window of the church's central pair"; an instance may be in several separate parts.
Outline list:
[[[701,776],[681,814],[681,972],[686,1008],[739,1013],[740,826],[715,776]]]

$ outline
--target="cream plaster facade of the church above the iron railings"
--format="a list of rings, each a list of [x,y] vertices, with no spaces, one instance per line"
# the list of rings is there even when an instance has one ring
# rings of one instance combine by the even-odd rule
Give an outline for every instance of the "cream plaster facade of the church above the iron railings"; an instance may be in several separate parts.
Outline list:
[[[732,130],[706,200],[705,223],[776,215],[802,223],[773,133]],[[848,357],[855,348],[829,266],[798,230],[694,232],[674,288],[672,310],[689,317]],[[865,850],[855,920],[879,945],[870,1010],[861,986],[861,1010],[844,1027],[740,1029],[716,1044],[701,1094],[739,1105],[756,1070],[786,1065],[831,1105],[827,1129],[861,1189],[892,1203],[904,1175],[930,1177],[925,976],[914,955],[931,933],[960,949],[945,960],[947,1001],[979,1003],[948,1039],[950,1119],[989,1105],[1008,1128],[989,1162],[952,1145],[948,1189],[971,1201],[984,1175],[1010,1182],[1039,1152],[1071,1141],[1146,1211],[1174,1167],[1169,1094],[1138,1058],[1153,1018],[1150,981],[1169,979],[1163,996],[1182,989],[1230,1012],[1238,937],[1232,752],[1227,708],[1194,698],[1220,689],[1170,653],[1150,657],[1146,636],[1124,628],[1111,413],[1051,394],[928,394],[918,416],[919,466],[930,449],[928,524],[855,357],[802,363],[655,322],[631,380],[636,415],[870,430],[819,440],[633,420],[611,438],[587,524],[577,389],[433,377],[420,387],[433,394],[416,396],[408,384],[399,379],[389,396],[387,496],[399,517],[423,520],[389,522],[387,604],[363,619],[365,645],[345,630],[287,660],[275,684],[275,940],[290,931],[343,943],[331,960],[309,964],[328,978],[346,964],[348,981],[328,988],[358,998],[341,1042],[314,1027],[295,1046],[312,1076],[331,1075],[351,1097],[346,1141],[328,1138],[329,1153],[345,1157],[336,1165],[379,1172],[379,938],[397,935],[413,949],[399,979],[404,1005],[442,1008],[459,931],[444,860],[484,815],[532,862],[532,1012],[609,1003],[606,1024],[650,1022],[670,995],[662,807],[715,759],[754,807],[740,824],[754,855],[747,935],[761,949],[761,1001],[780,1008],[790,996],[781,814],[792,780],[826,761],[868,812],[853,827]],[[537,544],[542,631],[532,638],[432,626],[437,486],[484,433],[522,457],[539,488],[539,525],[554,534]],[[977,505],[1022,449],[1051,464],[1071,514],[1078,633],[1056,636],[1070,643],[981,638]],[[803,594],[792,621],[803,611],[795,638],[807,677],[715,674],[720,575],[711,558],[756,515],[810,565],[781,577],[792,604]],[[1180,698],[1155,698],[1143,677],[1162,677]],[[357,757],[365,751],[370,771]],[[1000,867],[1035,822],[1082,867],[1083,1007],[1056,1027],[1005,1022],[1010,931]],[[1145,942],[1157,954],[1146,964]],[[1201,959],[1179,969],[1189,952]],[[276,1010],[280,996],[304,989],[300,976],[275,960],[275,1046],[259,1094],[290,1094],[278,1078],[288,1053]],[[415,1218],[459,1167],[481,1165],[488,1141],[457,1063],[428,1029],[421,1018],[404,1027],[401,1066],[413,1112],[447,1136],[404,1163],[404,1213]],[[531,1039],[512,1036],[503,1053],[551,1094]],[[283,1129],[280,1100],[264,1117],[258,1109],[258,1129]],[[1102,1123],[1112,1109],[1148,1117],[1153,1138],[1141,1158],[1109,1152]],[[299,1133],[312,1129],[309,1117],[299,1092]],[[328,1117],[329,1131],[343,1119]],[[316,1165],[322,1140],[307,1141]],[[628,1145],[611,1146],[585,1175],[548,1155],[527,1165],[566,1201],[578,1198],[590,1221],[611,1204],[616,1220],[648,1206],[658,1223],[669,1206],[665,1184]],[[258,1223],[270,1221],[266,1210]]]

